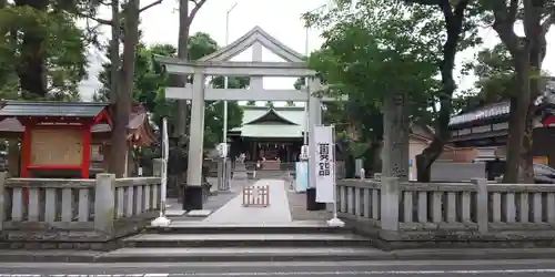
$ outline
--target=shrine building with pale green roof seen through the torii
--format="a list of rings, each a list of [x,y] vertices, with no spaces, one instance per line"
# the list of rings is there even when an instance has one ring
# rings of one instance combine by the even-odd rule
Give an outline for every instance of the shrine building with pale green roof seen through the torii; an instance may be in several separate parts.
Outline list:
[[[230,130],[230,154],[244,153],[265,170],[284,168],[297,161],[303,145],[306,112],[303,106],[243,107],[243,123]]]

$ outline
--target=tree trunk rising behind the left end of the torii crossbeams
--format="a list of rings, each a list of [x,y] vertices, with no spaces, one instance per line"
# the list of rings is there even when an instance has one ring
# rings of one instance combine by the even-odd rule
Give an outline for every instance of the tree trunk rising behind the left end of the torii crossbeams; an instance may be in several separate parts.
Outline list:
[[[178,58],[188,59],[188,42],[189,42],[189,28],[191,21],[189,19],[189,0],[179,0],[179,41],[178,41]],[[175,75],[173,85],[183,86],[186,83],[186,78]],[[189,114],[189,106],[186,100],[178,100],[175,111],[175,121],[173,126],[174,137],[184,137],[186,135],[186,117]]]

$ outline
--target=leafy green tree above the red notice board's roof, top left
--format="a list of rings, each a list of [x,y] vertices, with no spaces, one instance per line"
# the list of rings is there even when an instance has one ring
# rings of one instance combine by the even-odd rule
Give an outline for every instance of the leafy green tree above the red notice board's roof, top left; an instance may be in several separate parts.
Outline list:
[[[79,100],[87,76],[85,31],[73,12],[94,9],[73,1],[0,0],[0,90],[11,98]],[[19,93],[20,92],[20,93]]]

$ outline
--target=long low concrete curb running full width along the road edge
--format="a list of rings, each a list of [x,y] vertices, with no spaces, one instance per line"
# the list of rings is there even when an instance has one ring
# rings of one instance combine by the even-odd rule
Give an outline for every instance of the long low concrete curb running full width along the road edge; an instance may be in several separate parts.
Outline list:
[[[496,260],[555,259],[555,249],[417,249],[364,254],[172,254],[125,255],[71,250],[1,250],[0,263],[240,263],[240,261],[362,261],[362,260]]]

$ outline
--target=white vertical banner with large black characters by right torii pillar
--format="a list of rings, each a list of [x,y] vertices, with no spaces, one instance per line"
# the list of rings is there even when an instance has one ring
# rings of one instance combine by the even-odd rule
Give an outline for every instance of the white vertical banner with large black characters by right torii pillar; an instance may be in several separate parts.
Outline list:
[[[333,126],[314,126],[313,143],[316,147],[316,202],[335,203],[335,157]]]

